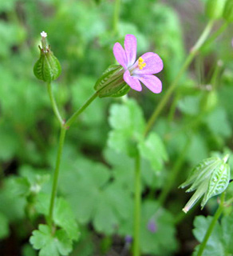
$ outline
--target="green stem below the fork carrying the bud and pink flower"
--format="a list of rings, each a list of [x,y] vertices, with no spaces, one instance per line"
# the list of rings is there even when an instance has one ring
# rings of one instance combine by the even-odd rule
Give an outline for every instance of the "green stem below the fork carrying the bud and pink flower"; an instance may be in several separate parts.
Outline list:
[[[61,163],[61,154],[62,149],[65,141],[65,133],[66,129],[64,126],[61,126],[60,131],[60,138],[59,138],[59,146],[57,150],[57,160],[56,160],[56,167],[55,172],[53,176],[53,188],[52,188],[52,194],[50,199],[50,206],[49,206],[49,226],[52,228],[53,225],[53,210],[54,210],[54,202],[57,194],[57,183],[58,183],[58,176],[59,176],[59,170],[60,170],[60,163]]]

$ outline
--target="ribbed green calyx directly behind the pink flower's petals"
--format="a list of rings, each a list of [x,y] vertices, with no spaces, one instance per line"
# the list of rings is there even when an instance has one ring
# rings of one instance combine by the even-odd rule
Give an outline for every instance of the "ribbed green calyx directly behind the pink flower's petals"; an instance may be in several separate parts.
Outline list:
[[[100,98],[121,97],[128,93],[130,87],[123,79],[124,69],[120,65],[111,65],[102,74],[94,86]]]

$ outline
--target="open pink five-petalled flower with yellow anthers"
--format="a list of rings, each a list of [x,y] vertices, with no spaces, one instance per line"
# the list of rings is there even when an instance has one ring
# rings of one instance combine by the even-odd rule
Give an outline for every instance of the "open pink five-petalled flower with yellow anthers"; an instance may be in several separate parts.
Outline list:
[[[124,68],[124,82],[133,90],[142,90],[140,82],[147,86],[155,94],[162,90],[162,82],[153,74],[163,70],[163,61],[158,54],[148,52],[136,61],[136,37],[126,34],[124,48],[119,42],[113,46],[113,54],[116,61]]]

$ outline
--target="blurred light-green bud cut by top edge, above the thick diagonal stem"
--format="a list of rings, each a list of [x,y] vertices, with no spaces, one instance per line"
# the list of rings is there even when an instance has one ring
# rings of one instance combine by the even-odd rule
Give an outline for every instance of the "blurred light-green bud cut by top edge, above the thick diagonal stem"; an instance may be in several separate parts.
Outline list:
[[[223,17],[226,0],[207,0],[206,14],[208,18],[218,19]]]

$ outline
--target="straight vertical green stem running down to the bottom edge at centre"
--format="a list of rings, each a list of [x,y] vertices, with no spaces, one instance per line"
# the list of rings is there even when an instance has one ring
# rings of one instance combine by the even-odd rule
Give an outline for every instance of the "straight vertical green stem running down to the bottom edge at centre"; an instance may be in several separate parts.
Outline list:
[[[135,158],[135,181],[134,181],[134,232],[133,232],[133,256],[140,256],[140,154]]]

